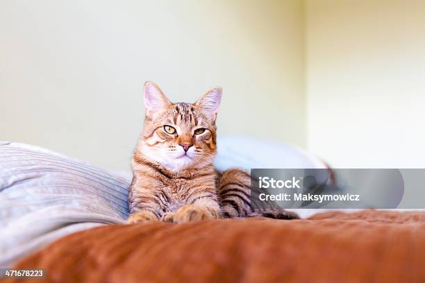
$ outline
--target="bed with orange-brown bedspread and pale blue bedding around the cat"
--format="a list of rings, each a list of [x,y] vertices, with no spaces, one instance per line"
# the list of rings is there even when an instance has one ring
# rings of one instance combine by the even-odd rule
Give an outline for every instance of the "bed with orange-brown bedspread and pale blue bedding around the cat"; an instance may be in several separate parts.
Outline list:
[[[243,141],[219,141],[219,169],[324,166],[291,146]],[[125,225],[130,181],[0,141],[0,268],[44,268],[47,282],[425,280],[425,212],[300,209],[296,221]]]

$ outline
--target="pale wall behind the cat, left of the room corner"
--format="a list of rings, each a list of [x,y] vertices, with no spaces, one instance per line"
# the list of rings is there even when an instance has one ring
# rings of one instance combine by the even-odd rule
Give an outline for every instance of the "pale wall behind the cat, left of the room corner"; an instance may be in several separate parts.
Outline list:
[[[287,1],[0,1],[0,139],[128,169],[141,87],[224,87],[219,134],[305,144],[303,17]]]

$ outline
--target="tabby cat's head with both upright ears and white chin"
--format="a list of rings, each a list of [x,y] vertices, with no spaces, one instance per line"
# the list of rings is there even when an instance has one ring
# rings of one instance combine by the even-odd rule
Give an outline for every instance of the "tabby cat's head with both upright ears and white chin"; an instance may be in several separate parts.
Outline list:
[[[195,103],[172,103],[158,85],[145,83],[146,117],[138,144],[141,158],[172,171],[211,164],[217,148],[215,120],[221,99],[222,88],[213,87]]]

